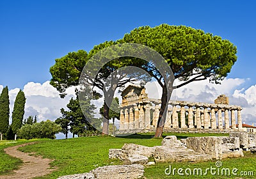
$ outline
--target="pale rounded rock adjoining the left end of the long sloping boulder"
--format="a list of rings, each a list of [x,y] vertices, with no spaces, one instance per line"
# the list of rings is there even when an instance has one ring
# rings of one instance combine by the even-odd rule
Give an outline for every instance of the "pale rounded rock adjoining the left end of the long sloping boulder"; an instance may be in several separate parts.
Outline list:
[[[138,144],[124,144],[122,151],[125,156],[132,157],[133,155],[143,155],[150,157],[154,153],[156,147],[142,146]]]

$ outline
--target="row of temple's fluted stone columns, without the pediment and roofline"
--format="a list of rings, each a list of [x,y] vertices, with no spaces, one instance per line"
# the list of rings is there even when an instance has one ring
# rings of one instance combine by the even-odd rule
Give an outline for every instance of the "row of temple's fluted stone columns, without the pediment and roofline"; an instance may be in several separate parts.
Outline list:
[[[222,112],[224,111],[224,124],[225,129],[230,128],[230,119],[228,111],[231,111],[231,128],[236,129],[236,116],[235,111],[237,111],[237,124],[238,129],[242,128],[241,120],[241,109],[211,109],[208,110],[200,109],[200,107],[189,106],[185,109],[185,106],[180,106],[180,108],[175,105],[172,111],[168,111],[166,115],[166,123],[164,128],[179,128],[179,115],[180,111],[180,128],[212,128],[212,129],[223,129],[223,117]],[[186,111],[188,111],[188,126],[186,125]],[[172,113],[171,113],[172,112]],[[211,115],[210,115],[211,113]],[[216,113],[218,118],[216,118]],[[137,130],[144,129],[145,127],[156,127],[159,118],[159,105],[154,107],[152,125],[150,118],[150,106],[147,104],[145,106],[139,105],[122,109],[120,111],[120,130]],[[217,126],[218,121],[218,126]]]

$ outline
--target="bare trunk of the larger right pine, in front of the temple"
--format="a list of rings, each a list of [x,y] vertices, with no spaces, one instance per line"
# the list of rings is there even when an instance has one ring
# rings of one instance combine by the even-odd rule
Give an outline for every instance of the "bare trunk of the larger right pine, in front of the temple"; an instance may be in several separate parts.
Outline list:
[[[159,111],[159,118],[158,118],[158,121],[157,121],[157,127],[156,127],[156,134],[154,137],[162,137],[162,134],[163,134],[163,128],[164,128],[164,123],[165,123],[165,120],[166,120],[166,113],[167,113],[167,110],[164,111],[167,102],[170,100],[170,97],[167,97],[167,87],[166,85],[164,84],[164,87],[163,87],[163,95],[162,95],[162,98],[161,98],[161,108],[160,108],[160,111]]]

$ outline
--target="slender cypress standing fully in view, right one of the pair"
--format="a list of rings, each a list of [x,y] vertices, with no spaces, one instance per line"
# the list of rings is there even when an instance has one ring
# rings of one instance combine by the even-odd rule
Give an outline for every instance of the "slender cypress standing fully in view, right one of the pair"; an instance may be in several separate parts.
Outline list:
[[[14,102],[13,113],[12,113],[12,130],[13,134],[17,133],[17,130],[22,126],[24,117],[26,98],[23,91],[19,91]]]

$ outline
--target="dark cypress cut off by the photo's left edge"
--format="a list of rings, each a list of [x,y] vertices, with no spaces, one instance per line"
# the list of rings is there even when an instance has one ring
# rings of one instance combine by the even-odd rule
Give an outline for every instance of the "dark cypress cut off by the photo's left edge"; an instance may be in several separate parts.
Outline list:
[[[3,88],[0,95],[0,132],[3,136],[6,136],[9,126],[10,117],[10,100],[8,95],[8,86]]]

